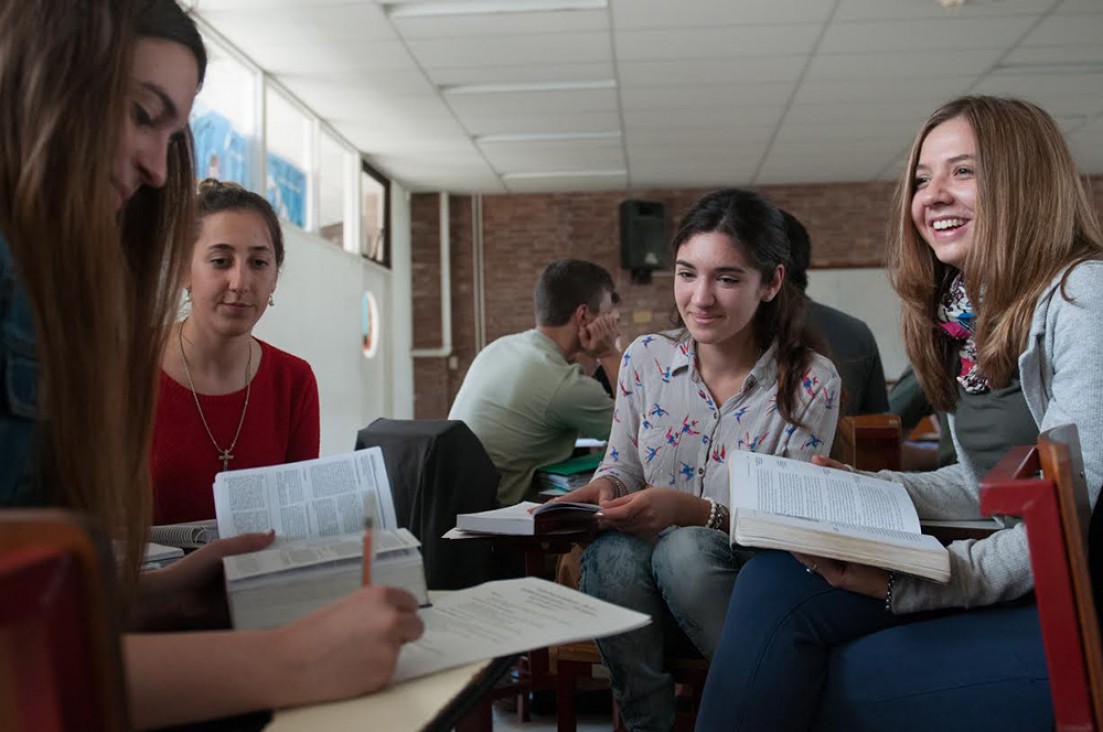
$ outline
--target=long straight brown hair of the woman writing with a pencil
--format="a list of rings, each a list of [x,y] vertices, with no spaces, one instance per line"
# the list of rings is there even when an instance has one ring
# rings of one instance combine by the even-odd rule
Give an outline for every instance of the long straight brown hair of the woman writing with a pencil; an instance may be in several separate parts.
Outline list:
[[[173,9],[183,17],[172,0],[0,1],[0,230],[34,317],[38,477],[51,503],[127,539],[125,589],[148,532],[154,376],[191,244],[190,138],[172,143],[165,186],[119,214],[109,181],[136,29]]]

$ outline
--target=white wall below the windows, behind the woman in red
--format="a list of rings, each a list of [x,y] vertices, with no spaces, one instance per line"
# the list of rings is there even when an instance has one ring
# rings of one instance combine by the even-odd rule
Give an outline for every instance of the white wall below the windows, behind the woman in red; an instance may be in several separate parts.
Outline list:
[[[397,186],[396,186],[397,189]],[[256,335],[307,359],[318,378],[323,455],[352,450],[356,431],[377,417],[414,413],[409,357],[409,204],[393,192],[394,270],[285,224],[287,256],[269,308]],[[361,348],[361,298],[371,291],[379,306],[379,347],[374,358]]]

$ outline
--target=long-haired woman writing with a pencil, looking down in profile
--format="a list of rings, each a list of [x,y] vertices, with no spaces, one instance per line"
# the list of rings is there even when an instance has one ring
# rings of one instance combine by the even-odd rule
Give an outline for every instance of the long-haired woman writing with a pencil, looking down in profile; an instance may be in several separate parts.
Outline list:
[[[139,574],[154,384],[194,213],[188,112],[205,71],[174,0],[0,1],[0,506],[89,515],[126,547],[124,622],[208,610],[215,542]],[[132,721],[156,726],[335,699],[392,676],[421,632],[364,589],[271,631],[130,633]]]

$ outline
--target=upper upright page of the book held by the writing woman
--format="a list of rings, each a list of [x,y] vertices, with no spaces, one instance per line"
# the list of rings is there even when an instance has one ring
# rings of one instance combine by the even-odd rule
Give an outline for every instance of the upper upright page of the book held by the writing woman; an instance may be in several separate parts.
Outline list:
[[[364,502],[375,503],[377,528],[398,528],[379,448],[286,465],[218,473],[214,482],[218,536],[276,530],[278,541],[363,530]]]

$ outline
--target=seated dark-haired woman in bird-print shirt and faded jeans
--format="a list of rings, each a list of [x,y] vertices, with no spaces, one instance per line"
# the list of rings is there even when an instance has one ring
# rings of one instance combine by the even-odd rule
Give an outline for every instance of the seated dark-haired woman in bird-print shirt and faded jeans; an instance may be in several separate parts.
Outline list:
[[[631,730],[670,729],[664,648],[710,658],[743,559],[728,543],[727,455],[802,460],[831,450],[840,381],[802,329],[779,212],[749,191],[697,201],[674,236],[676,331],[624,353],[606,459],[565,500],[601,504],[580,589],[649,613],[598,642]]]

